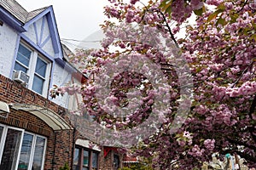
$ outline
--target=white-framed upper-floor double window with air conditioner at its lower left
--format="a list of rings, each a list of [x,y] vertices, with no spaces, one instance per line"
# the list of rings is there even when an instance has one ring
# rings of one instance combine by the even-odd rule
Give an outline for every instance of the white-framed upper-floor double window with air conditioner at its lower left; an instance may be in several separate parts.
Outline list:
[[[20,43],[15,61],[15,71],[23,71],[29,76],[28,88],[47,96],[50,62],[37,51]]]

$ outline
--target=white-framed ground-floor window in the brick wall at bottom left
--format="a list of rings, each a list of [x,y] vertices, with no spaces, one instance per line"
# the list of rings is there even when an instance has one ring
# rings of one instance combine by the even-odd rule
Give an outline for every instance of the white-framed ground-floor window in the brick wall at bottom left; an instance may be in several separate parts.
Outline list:
[[[24,129],[0,125],[0,169],[43,170],[46,139]]]

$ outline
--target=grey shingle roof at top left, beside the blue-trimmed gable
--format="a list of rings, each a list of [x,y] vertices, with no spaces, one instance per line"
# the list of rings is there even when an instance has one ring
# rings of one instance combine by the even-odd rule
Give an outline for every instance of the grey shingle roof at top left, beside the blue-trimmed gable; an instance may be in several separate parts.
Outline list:
[[[25,8],[21,7],[15,0],[0,0],[0,6],[5,8],[10,14],[15,16],[17,20],[20,20],[23,24],[27,21],[32,20],[35,16],[42,13],[46,8],[38,8],[31,12],[26,11]]]

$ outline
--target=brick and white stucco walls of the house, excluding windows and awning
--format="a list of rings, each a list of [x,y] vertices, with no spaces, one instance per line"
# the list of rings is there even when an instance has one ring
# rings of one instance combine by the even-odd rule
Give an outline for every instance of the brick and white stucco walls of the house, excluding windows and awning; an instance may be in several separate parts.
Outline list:
[[[72,125],[69,120],[70,117],[67,116],[67,108],[77,109],[78,102],[74,101],[77,99],[76,97],[74,98],[66,94],[56,99],[46,99],[39,94],[35,94],[32,90],[23,87],[20,83],[11,80],[12,69],[15,63],[15,53],[17,52],[20,39],[23,38],[32,48],[35,48],[35,50],[42,49],[41,53],[47,55],[45,57],[51,58],[53,71],[51,72],[50,85],[55,84],[61,86],[70,81],[80,82],[79,79],[73,79],[72,73],[55,62],[55,55],[61,57],[59,56],[61,53],[58,52],[58,54],[55,54],[53,41],[51,40],[53,37],[50,35],[52,36],[53,34],[50,34],[48,18],[45,15],[29,26],[28,31],[23,33],[15,31],[5,23],[3,23],[3,26],[0,26],[0,101],[7,104],[33,104],[46,107],[54,111],[55,114],[63,117],[69,125]],[[80,98],[78,100],[81,101],[82,99]],[[84,125],[83,119],[79,119],[79,121],[82,121],[81,123]],[[73,129],[54,131],[40,117],[34,116],[26,111],[16,111],[14,109],[10,109],[9,117],[0,118],[0,123],[12,127],[19,127],[47,138],[44,170],[59,170],[60,167],[64,166],[65,162],[71,167],[73,164],[73,149],[76,139],[96,138],[93,133],[94,131],[86,125],[81,127],[82,129],[78,129],[76,133],[74,133],[75,130]],[[79,130],[85,132],[85,134],[81,135]],[[104,150],[101,150],[99,169],[113,169],[114,153],[115,151],[111,150],[108,156],[104,157]],[[118,154],[118,152],[115,154]],[[120,161],[122,160],[121,155],[119,155],[119,159]]]

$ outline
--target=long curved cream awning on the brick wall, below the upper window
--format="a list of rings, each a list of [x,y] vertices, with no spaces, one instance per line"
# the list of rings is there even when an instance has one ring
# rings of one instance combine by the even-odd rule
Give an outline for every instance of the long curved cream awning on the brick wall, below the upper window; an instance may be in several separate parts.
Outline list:
[[[52,127],[53,130],[69,130],[73,129],[61,116],[59,116],[54,111],[33,104],[11,104],[10,107],[15,110],[28,111],[34,116],[38,116],[43,120],[49,127]]]

